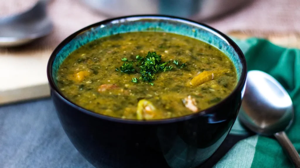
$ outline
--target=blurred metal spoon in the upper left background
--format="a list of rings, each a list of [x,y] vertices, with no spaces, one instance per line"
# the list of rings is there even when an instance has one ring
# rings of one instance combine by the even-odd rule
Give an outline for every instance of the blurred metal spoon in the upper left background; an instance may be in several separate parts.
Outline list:
[[[48,1],[40,0],[24,13],[0,18],[0,47],[23,45],[48,35],[53,29],[46,13]]]

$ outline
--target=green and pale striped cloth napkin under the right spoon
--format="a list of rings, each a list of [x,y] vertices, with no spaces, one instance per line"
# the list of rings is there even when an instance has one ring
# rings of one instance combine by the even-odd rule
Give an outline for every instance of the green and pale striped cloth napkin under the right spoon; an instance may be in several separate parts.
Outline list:
[[[261,70],[277,79],[292,98],[295,117],[286,131],[300,152],[300,50],[276,46],[267,40],[251,38],[235,40],[243,51],[248,71]],[[247,134],[238,121],[230,134]],[[273,137],[254,135],[239,141],[216,164],[216,168],[285,168],[293,167]]]

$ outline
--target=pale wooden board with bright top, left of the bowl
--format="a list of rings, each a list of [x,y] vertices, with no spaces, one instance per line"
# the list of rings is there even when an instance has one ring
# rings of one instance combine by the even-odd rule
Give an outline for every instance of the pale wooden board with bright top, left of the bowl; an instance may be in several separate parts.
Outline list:
[[[46,67],[52,51],[9,53],[0,57],[0,105],[50,96]]]

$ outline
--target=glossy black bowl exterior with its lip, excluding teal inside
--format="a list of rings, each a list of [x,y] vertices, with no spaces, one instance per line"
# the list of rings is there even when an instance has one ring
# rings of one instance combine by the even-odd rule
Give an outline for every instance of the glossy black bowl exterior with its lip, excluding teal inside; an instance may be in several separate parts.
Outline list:
[[[126,17],[128,16],[121,18]],[[165,17],[193,22],[173,16]],[[107,117],[90,112],[67,100],[53,82],[52,64],[59,50],[76,35],[111,20],[113,19],[73,33],[58,45],[49,59],[47,76],[51,97],[67,136],[76,149],[97,168],[190,168],[203,164],[228,135],[241,106],[247,75],[243,53],[223,33],[207,25],[193,22],[217,32],[238,53],[242,72],[234,91],[220,103],[189,116],[157,121]]]

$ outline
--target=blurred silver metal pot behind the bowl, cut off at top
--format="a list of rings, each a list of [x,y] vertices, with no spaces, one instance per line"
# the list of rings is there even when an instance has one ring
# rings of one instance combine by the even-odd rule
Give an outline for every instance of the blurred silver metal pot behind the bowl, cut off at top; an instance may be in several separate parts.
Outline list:
[[[238,9],[253,0],[80,0],[109,16],[164,14],[203,20]]]

